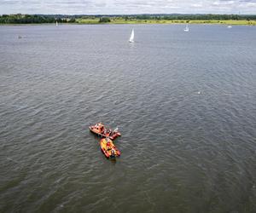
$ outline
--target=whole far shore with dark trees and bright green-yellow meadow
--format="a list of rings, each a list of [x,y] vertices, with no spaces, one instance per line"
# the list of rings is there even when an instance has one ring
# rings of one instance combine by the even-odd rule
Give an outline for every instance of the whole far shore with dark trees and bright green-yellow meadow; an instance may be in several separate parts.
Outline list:
[[[256,26],[256,14],[3,14],[0,25],[219,24]]]

